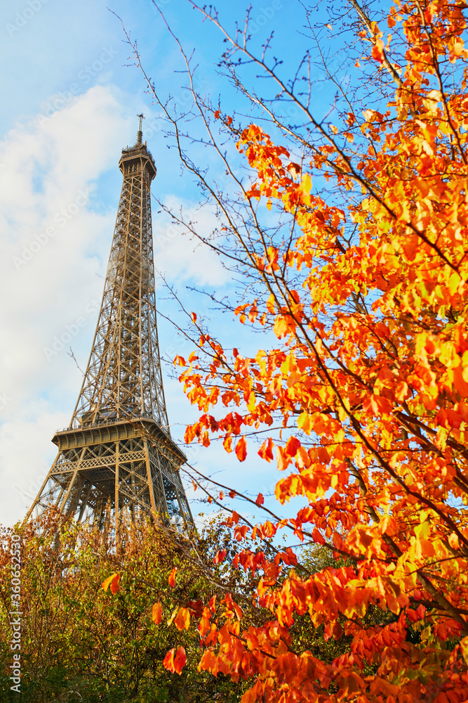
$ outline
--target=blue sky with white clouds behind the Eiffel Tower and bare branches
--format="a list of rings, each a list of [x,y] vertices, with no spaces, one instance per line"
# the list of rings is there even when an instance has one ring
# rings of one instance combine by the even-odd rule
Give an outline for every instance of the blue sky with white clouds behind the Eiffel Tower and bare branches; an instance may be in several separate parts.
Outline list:
[[[215,226],[210,208],[199,208],[193,179],[182,174],[168,150],[159,110],[151,105],[145,82],[133,66],[121,17],[138,41],[142,61],[163,99],[187,101],[185,77],[175,42],[149,0],[3,0],[0,10],[0,521],[12,524],[32,502],[53,458],[54,432],[72,415],[86,366],[103,276],[114,230],[121,188],[121,148],[135,141],[139,112],[145,113],[144,138],[154,155],[158,176],[153,192],[168,204],[182,206],[205,231]],[[220,96],[229,112],[237,96],[218,75],[222,36],[201,22],[186,0],[159,0],[159,6],[187,53],[195,50],[201,90],[213,101]],[[252,2],[253,41],[260,46],[274,30],[276,54],[288,61],[299,56],[305,39],[297,32],[302,10],[289,0]],[[246,7],[229,0],[218,4],[229,28],[243,20]],[[295,56],[290,46],[294,46]],[[325,110],[326,96],[317,107]],[[323,103],[323,107],[320,105]],[[203,150],[199,150],[203,158]],[[175,285],[185,301],[203,306],[187,292],[206,287],[223,292],[230,281],[219,259],[206,247],[173,231],[153,211],[156,269]],[[191,298],[192,296],[192,298]],[[158,305],[173,319],[178,308],[162,287]],[[197,308],[200,312],[200,308]],[[232,327],[232,319],[213,315],[215,326]],[[76,321],[84,319],[79,325]],[[183,320],[180,319],[183,324]],[[159,322],[164,356],[187,354],[175,330]],[[70,341],[60,342],[62,337]],[[229,336],[229,335],[228,335]],[[55,344],[55,347],[54,347]],[[69,356],[72,347],[74,357]],[[47,349],[53,349],[54,354]],[[249,349],[250,351],[250,349]],[[166,399],[173,434],[180,439],[193,420],[176,380],[166,374]],[[239,465],[215,444],[191,455],[203,472],[239,490],[267,493],[278,478],[275,467],[255,459]],[[193,491],[187,490],[194,500]],[[194,512],[201,508],[192,503]]]

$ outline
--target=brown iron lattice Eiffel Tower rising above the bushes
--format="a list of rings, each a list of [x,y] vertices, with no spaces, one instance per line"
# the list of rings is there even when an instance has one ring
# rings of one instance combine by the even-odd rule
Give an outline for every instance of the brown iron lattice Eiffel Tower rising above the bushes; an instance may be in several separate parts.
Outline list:
[[[123,184],[104,295],[72,420],[52,441],[58,455],[29,515],[55,505],[75,520],[117,531],[123,512],[193,522],[171,439],[161,378],[151,226],[152,155],[142,142],[122,150]]]

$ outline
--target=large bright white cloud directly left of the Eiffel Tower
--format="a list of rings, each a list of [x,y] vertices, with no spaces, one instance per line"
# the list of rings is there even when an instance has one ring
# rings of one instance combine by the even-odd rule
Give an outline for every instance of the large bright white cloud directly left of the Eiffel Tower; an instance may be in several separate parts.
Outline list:
[[[49,358],[44,347],[68,332],[87,359],[102,295],[96,273],[105,273],[115,221],[114,209],[93,211],[93,190],[133,132],[122,113],[114,91],[95,86],[0,143],[0,476],[9,486],[1,522],[24,515],[14,486],[27,491],[53,458],[51,437],[69,422],[81,385],[67,345]]]

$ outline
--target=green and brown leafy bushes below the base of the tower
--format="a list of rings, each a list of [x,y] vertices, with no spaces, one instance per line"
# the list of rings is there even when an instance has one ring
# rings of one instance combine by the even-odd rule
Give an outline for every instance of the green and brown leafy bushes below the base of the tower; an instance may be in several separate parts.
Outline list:
[[[17,526],[18,527],[18,526]],[[213,530],[216,532],[214,534]],[[213,540],[219,528],[182,538],[160,524],[132,524],[123,516],[120,543],[112,534],[44,512],[19,526],[21,554],[21,698],[31,703],[147,703],[213,698],[236,701],[245,684],[197,671],[199,637],[180,618],[203,600],[224,595],[213,579]],[[1,701],[11,690],[11,530],[0,532]],[[119,578],[114,574],[119,572]],[[177,574],[173,588],[168,575]],[[110,579],[109,579],[110,576]],[[211,579],[210,579],[211,576]],[[108,581],[104,590],[101,583]],[[229,580],[229,579],[228,579]],[[230,580],[241,593],[236,574]],[[157,602],[157,606],[156,606]],[[184,652],[181,676],[163,666],[168,650]]]

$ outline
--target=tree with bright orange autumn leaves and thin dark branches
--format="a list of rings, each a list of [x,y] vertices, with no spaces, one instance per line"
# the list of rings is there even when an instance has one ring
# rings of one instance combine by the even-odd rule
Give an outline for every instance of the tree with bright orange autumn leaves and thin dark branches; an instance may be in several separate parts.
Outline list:
[[[215,104],[196,91],[182,46],[193,94],[186,114],[148,78],[220,226],[207,236],[183,213],[171,214],[225,257],[242,297],[222,303],[237,323],[263,334],[262,348],[246,354],[193,311],[194,351],[175,360],[199,410],[186,439],[207,445],[220,437],[248,461],[258,435],[258,453],[283,475],[278,507],[263,522],[228,510],[239,548],[215,555],[218,564],[229,558],[232,569],[260,575],[251,603],[269,620],[252,624],[227,591],[216,605],[204,602],[200,617],[182,609],[171,626],[196,628],[201,671],[248,682],[244,703],[461,703],[468,699],[467,4],[314,6],[302,30],[311,48],[286,77],[271,39],[260,53],[251,48],[248,21],[229,33],[212,7],[189,4],[224,34],[222,70],[255,120],[225,110],[222,96]],[[325,119],[314,113],[313,76],[335,86]],[[201,140],[232,187],[210,181],[194,160]],[[214,489],[210,499],[220,503],[240,492]],[[281,505],[298,496],[300,510],[288,517]],[[261,509],[264,498],[253,502]],[[259,538],[277,544],[281,531],[307,546],[307,558],[259,546]],[[341,643],[334,659],[294,637],[305,619]],[[176,654],[165,661],[179,673]]]

